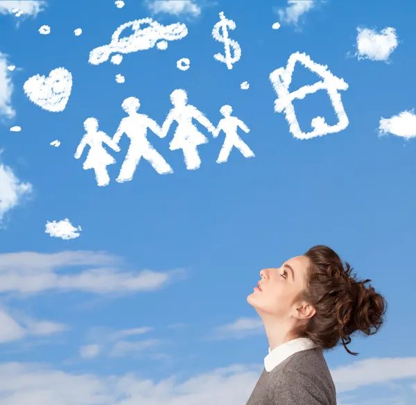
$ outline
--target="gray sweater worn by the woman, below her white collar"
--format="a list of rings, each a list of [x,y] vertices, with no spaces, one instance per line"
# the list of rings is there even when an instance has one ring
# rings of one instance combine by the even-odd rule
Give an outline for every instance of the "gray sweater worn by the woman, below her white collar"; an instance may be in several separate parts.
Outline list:
[[[335,385],[320,347],[266,368],[246,405],[336,405]]]

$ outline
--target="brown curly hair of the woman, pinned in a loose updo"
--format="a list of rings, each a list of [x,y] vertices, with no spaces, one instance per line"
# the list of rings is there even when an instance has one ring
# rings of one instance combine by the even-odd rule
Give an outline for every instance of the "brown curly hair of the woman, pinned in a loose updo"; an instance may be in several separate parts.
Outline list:
[[[370,284],[371,279],[358,281],[351,275],[353,268],[331,248],[316,245],[304,256],[311,261],[306,288],[302,299],[315,309],[314,316],[306,323],[297,325],[292,333],[300,338],[310,338],[323,349],[331,349],[342,342],[349,354],[347,345],[351,336],[361,331],[369,336],[376,334],[385,322],[387,301],[376,293]]]

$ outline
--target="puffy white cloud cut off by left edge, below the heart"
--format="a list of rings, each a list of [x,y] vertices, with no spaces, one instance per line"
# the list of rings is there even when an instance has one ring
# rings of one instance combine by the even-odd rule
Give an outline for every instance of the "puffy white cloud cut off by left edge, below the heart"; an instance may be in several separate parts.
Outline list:
[[[10,166],[0,162],[0,224],[4,215],[19,205],[31,191],[32,184],[21,182]]]

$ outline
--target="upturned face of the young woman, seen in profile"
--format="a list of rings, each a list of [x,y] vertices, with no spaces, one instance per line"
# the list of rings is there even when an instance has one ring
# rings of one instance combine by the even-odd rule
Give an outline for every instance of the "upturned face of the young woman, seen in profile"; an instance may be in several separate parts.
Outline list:
[[[248,295],[247,301],[259,315],[286,320],[296,315],[300,293],[306,287],[309,259],[296,256],[288,259],[279,268],[264,268],[260,272],[259,288]]]

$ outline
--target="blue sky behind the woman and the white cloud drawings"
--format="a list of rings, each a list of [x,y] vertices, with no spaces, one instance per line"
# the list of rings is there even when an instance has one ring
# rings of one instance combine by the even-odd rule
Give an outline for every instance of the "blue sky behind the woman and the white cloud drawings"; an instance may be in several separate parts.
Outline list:
[[[162,10],[144,1],[117,8],[107,0],[49,0],[20,17],[10,3],[19,2],[0,1],[0,405],[34,397],[46,405],[245,403],[268,350],[246,297],[261,268],[320,243],[372,279],[389,303],[379,334],[353,339],[358,357],[343,347],[327,352],[338,402],[415,402],[416,131],[410,119],[383,136],[378,130],[381,119],[414,117],[415,4],[315,2],[287,21],[279,10],[291,5],[283,0],[160,1]],[[236,22],[229,35],[241,60],[233,69],[213,58],[223,52],[211,37],[220,11]],[[124,55],[119,65],[88,63],[118,26],[144,17],[180,21],[189,33],[164,51]],[[49,35],[38,33],[42,25]],[[358,58],[357,28],[387,27],[398,39],[388,58]],[[296,139],[284,113],[274,112],[269,75],[297,51],[348,83],[340,92],[345,130]],[[177,69],[180,58],[191,60],[189,70]],[[6,70],[10,64],[16,69]],[[58,67],[71,72],[73,87],[64,111],[49,112],[29,101],[23,85]],[[316,80],[297,65],[290,89]],[[159,175],[141,161],[132,181],[119,184],[124,135],[108,167],[111,182],[98,187],[93,171],[83,170],[87,150],[73,157],[83,121],[96,117],[112,137],[125,117],[121,103],[135,96],[140,112],[162,125],[174,89],[185,89],[214,125],[220,107],[232,105],[250,128],[241,137],[255,157],[234,149],[216,164],[224,135],[207,135],[200,169],[189,171],[181,151],[168,148],[173,131],[165,139],[149,131],[174,172]],[[337,121],[322,90],[293,104],[304,132],[313,117]],[[395,136],[399,130],[414,135]],[[64,218],[82,228],[79,237],[45,233],[48,221]]]

